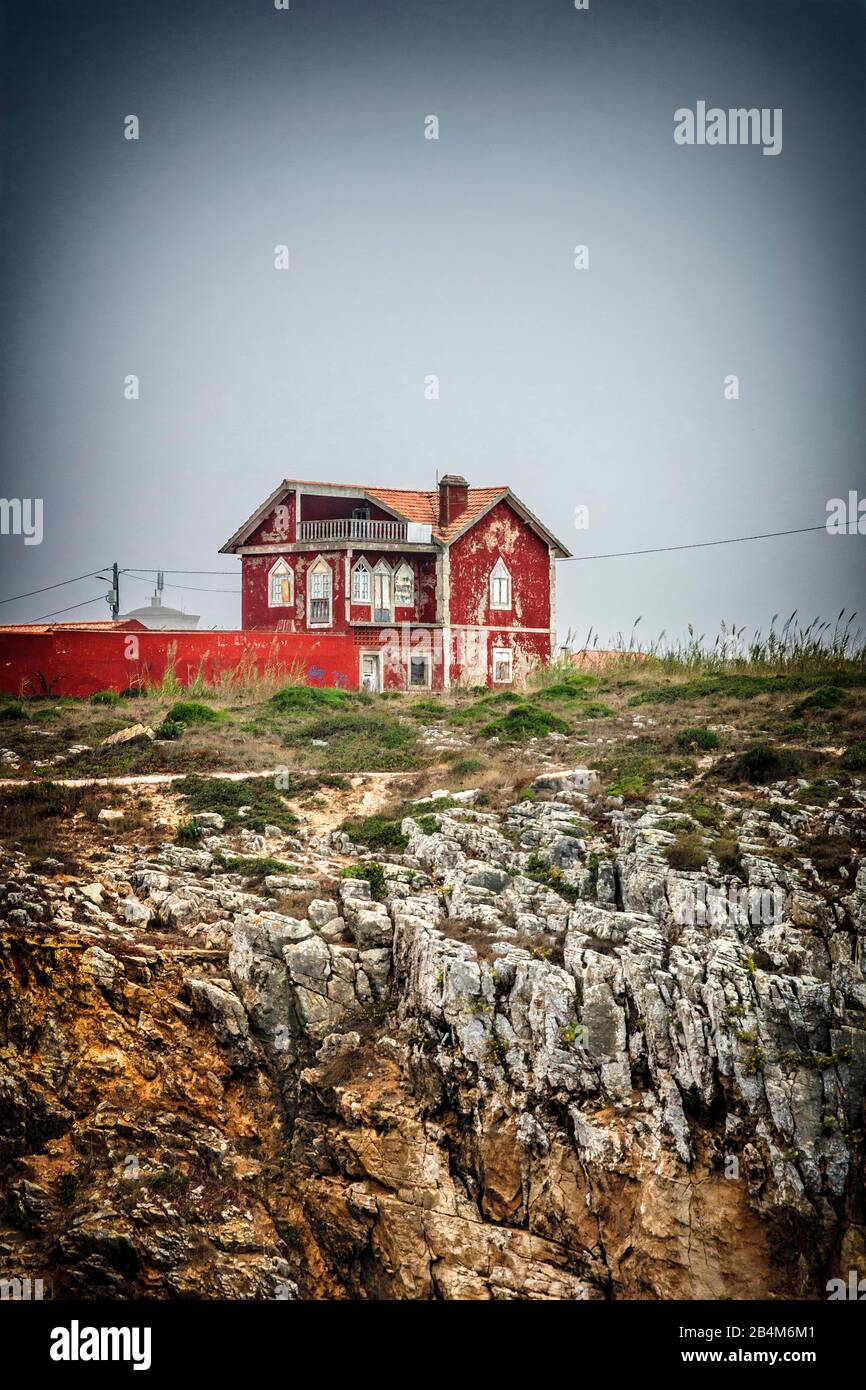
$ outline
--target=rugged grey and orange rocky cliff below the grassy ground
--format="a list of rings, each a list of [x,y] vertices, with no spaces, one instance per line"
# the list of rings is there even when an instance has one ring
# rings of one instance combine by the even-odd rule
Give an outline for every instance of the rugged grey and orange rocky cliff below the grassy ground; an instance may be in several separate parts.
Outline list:
[[[8,855],[0,1277],[819,1298],[866,1268],[866,795],[721,788],[734,858],[689,872],[684,790],[588,781],[434,801],[378,865],[218,815],[89,878]]]

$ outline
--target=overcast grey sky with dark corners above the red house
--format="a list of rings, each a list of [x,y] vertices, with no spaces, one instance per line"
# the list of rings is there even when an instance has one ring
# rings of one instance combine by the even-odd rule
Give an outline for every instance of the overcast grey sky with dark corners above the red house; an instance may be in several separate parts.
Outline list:
[[[0,537],[0,596],[236,588],[282,477],[510,484],[577,555],[865,496],[865,35],[859,0],[7,0],[3,496],[44,539]],[[783,108],[783,153],[677,146],[698,100]],[[560,631],[835,617],[865,543],[566,563]]]

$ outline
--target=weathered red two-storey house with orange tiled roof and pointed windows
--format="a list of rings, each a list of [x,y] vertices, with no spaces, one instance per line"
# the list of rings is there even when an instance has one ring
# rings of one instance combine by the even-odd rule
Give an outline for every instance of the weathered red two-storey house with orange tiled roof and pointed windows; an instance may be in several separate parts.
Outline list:
[[[247,631],[350,639],[370,689],[510,685],[556,642],[566,548],[510,488],[284,480],[222,555]]]

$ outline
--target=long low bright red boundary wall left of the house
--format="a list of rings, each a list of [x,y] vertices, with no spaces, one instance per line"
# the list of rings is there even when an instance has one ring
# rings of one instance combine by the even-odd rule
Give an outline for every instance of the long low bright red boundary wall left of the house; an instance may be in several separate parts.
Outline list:
[[[136,628],[53,628],[0,632],[0,689],[7,695],[92,695],[160,681],[174,667],[181,685],[240,681],[252,670],[307,685],[359,684],[353,635],[303,632],[154,632]]]

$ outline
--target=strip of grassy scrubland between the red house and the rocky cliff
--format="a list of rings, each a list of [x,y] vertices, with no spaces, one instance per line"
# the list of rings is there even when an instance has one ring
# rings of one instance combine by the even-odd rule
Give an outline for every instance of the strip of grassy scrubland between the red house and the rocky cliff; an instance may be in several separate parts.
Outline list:
[[[215,687],[196,676],[183,688],[170,663],[158,682],[125,692],[135,702],[111,691],[3,699],[0,745],[8,777],[50,778],[60,766],[70,777],[281,766],[292,777],[423,777],[430,769],[428,787],[446,777],[445,785],[477,784],[493,796],[553,758],[595,769],[605,795],[641,801],[676,783],[712,806],[710,788],[728,778],[744,788],[785,777],[849,784],[866,766],[863,689],[866,660],[849,620],[802,631],[790,620],[751,641],[730,628],[712,645],[695,634],[649,644],[592,671],[557,660],[525,689],[374,695],[263,676],[249,663]],[[160,737],[101,746],[132,721]],[[446,774],[435,770],[445,763]]]

